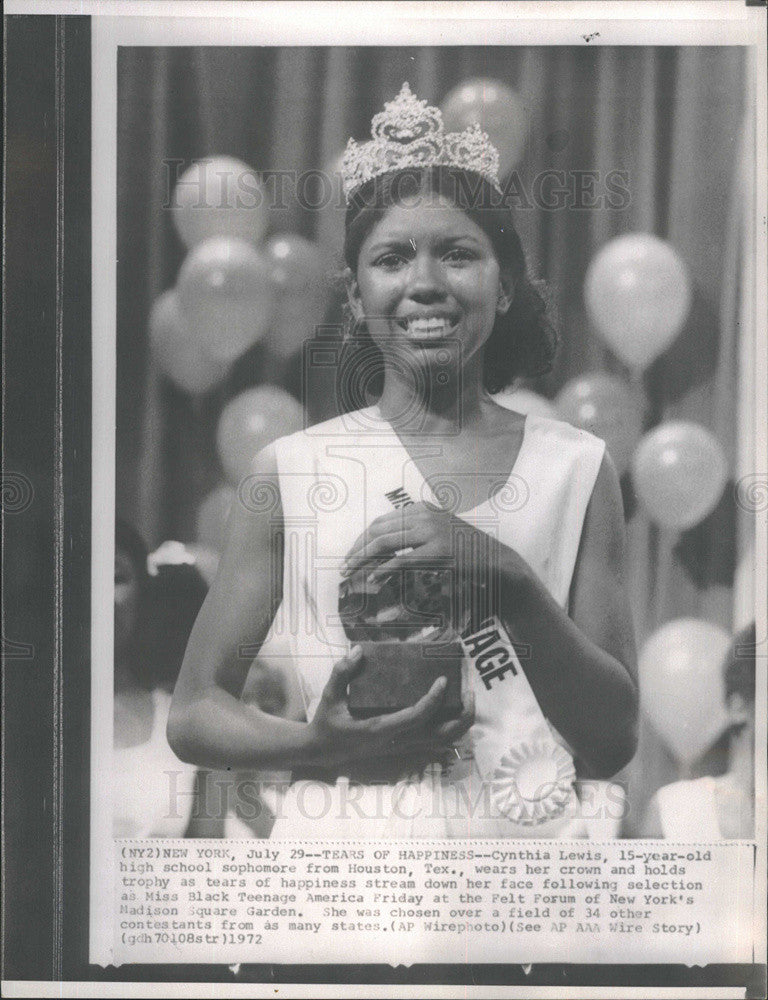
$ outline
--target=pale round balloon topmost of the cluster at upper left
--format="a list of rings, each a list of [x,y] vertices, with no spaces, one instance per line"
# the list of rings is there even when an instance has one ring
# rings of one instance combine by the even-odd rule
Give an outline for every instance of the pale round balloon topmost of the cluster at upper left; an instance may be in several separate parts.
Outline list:
[[[173,221],[183,243],[212,236],[260,243],[267,231],[267,192],[247,163],[231,156],[198,160],[173,191]]]

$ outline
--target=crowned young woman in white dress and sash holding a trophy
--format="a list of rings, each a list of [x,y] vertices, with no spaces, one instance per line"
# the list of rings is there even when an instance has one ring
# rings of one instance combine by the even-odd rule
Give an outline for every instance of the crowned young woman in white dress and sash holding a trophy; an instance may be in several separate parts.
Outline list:
[[[407,85],[348,148],[346,282],[363,335],[340,402],[380,395],[256,459],[169,722],[183,759],[293,771],[273,836],[583,836],[574,761],[604,777],[634,753],[615,470],[601,441],[489,394],[554,352],[497,163],[479,128],[445,134]],[[463,710],[443,717],[438,680],[410,707],[353,717],[361,653],[339,589],[419,564],[452,567]],[[243,650],[281,601],[307,722],[240,701]]]

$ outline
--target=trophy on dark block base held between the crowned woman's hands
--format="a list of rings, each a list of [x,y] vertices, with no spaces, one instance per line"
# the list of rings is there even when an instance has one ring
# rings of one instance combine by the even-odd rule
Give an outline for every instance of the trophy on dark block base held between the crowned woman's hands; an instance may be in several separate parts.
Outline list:
[[[407,567],[372,581],[367,571],[343,580],[339,615],[347,638],[362,648],[349,684],[349,711],[358,718],[413,705],[438,677],[447,678],[437,718],[461,712],[463,648],[450,627],[450,569]]]

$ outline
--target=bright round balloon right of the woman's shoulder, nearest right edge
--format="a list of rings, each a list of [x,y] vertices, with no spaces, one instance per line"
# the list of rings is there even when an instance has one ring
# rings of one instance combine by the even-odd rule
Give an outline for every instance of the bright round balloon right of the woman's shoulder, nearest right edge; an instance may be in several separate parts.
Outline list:
[[[725,455],[706,428],[684,420],[649,431],[632,458],[632,481],[650,517],[665,528],[692,528],[710,514],[728,477]]]

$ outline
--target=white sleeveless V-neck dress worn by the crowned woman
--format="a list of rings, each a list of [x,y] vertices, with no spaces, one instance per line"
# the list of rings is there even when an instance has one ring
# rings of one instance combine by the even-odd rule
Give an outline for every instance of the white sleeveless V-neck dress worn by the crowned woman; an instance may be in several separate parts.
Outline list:
[[[340,570],[347,551],[372,521],[395,507],[420,501],[437,504],[438,499],[446,506],[457,477],[426,482],[415,460],[439,455],[440,439],[425,436],[409,453],[376,406],[281,438],[274,448],[284,578],[283,603],[273,630],[290,642],[311,719],[333,664],[350,646],[338,613]],[[566,611],[604,449],[604,442],[586,431],[528,414],[519,455],[502,488],[473,510],[457,513],[515,549]],[[509,655],[514,657],[504,653],[507,659]],[[371,783],[343,774],[331,782],[297,780],[275,804],[272,837],[588,836],[588,824],[572,794],[572,754],[544,720],[524,671],[507,663],[504,669],[511,673],[505,683],[514,673],[518,687],[511,686],[507,693],[499,684],[487,691],[469,661],[467,654],[465,678],[475,686],[476,721],[454,749],[450,764],[433,763],[421,772],[404,770],[394,779]],[[520,732],[528,734],[522,742],[517,739]],[[536,767],[542,754],[547,780],[551,778],[559,791],[544,806],[534,802],[532,794],[527,812],[527,806],[489,809],[487,788],[494,803],[502,801],[499,788],[505,795],[510,788],[516,792],[526,774],[540,773]],[[488,761],[497,759],[498,765],[489,768]],[[598,797],[604,792],[603,785]],[[568,808],[563,808],[566,799]],[[594,816],[604,816],[595,808],[594,789],[592,809]],[[600,835],[608,833],[605,822],[598,822],[597,829]]]

